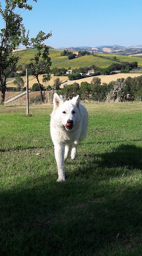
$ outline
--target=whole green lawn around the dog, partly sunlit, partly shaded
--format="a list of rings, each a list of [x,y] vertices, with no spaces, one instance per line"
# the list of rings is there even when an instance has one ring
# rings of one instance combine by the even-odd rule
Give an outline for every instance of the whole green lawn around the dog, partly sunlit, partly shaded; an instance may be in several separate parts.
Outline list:
[[[142,103],[86,107],[59,184],[51,106],[0,107],[0,255],[142,255]]]

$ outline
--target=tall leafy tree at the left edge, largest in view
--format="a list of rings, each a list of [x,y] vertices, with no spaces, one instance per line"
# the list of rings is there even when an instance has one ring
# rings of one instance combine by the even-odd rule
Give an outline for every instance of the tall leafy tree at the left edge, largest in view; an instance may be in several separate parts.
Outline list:
[[[9,74],[16,69],[20,56],[13,54],[13,50],[20,44],[28,45],[28,35],[23,25],[23,18],[18,14],[19,9],[32,10],[28,0],[5,0],[5,7],[0,2],[0,16],[3,24],[0,25],[0,91],[1,104],[4,103],[6,81]],[[33,0],[37,2],[37,0]]]

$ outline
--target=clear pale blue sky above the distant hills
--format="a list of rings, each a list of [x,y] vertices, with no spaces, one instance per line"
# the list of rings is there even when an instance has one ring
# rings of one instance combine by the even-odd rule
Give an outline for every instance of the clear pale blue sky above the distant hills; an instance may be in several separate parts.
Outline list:
[[[1,0],[0,2],[4,2]],[[34,37],[52,31],[45,43],[54,48],[142,44],[142,0],[37,0],[22,13]]]

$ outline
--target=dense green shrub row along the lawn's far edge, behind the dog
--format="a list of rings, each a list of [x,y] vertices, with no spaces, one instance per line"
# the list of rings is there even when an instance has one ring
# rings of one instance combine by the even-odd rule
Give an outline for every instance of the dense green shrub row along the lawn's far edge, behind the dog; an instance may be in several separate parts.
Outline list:
[[[80,86],[78,83],[65,84],[59,93],[66,100],[78,94],[81,100],[105,101],[108,98],[112,101],[142,100],[142,76],[117,79],[109,84],[101,84],[101,79],[94,77],[90,84],[88,82],[82,82]]]

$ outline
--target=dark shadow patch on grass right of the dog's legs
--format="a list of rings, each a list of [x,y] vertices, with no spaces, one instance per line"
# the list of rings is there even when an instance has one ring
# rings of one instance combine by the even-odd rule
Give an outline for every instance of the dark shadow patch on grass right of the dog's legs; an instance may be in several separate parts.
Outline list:
[[[72,163],[67,162],[66,165],[69,168]],[[70,177],[85,177],[89,178],[96,173],[96,176],[101,175],[102,172],[106,172],[105,180],[116,176],[122,176],[127,170],[133,172],[134,170],[142,170],[142,148],[138,148],[134,145],[122,144],[117,148],[114,148],[112,152],[106,152],[104,154],[88,153],[82,157],[82,160],[78,164],[79,168],[70,172]],[[114,171],[115,169],[115,171]],[[98,171],[99,170],[99,171]],[[98,177],[97,177],[98,179]]]

